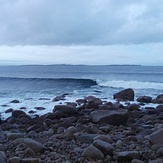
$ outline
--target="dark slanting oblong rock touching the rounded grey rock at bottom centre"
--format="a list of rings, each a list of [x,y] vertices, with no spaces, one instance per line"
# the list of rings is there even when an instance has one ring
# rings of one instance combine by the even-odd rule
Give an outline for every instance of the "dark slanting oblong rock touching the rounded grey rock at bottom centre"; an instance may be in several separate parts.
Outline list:
[[[98,148],[105,156],[106,155],[113,155],[113,146],[110,143],[97,139],[93,142],[93,146]]]

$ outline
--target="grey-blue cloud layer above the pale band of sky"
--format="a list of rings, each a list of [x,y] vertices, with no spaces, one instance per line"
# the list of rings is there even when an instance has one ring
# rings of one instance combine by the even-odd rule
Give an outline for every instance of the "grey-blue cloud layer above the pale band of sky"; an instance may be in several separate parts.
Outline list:
[[[0,45],[163,42],[162,0],[0,0]]]

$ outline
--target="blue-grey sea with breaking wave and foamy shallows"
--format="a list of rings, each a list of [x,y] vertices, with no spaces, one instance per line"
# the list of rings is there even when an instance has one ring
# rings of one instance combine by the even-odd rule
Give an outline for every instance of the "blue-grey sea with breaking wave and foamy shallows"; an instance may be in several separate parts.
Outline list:
[[[112,101],[113,94],[132,88],[135,100],[147,95],[155,98],[163,93],[163,66],[139,65],[28,65],[0,66],[0,113],[5,119],[9,108],[51,112],[58,103],[74,102],[89,95]],[[66,94],[64,101],[53,98]],[[20,103],[10,103],[19,100]],[[152,104],[151,104],[152,105]]]

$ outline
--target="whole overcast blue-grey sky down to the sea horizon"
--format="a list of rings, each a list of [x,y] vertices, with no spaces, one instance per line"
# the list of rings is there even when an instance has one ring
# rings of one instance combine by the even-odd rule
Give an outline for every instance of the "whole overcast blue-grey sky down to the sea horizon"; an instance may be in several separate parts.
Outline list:
[[[0,64],[163,65],[162,0],[0,0]]]

